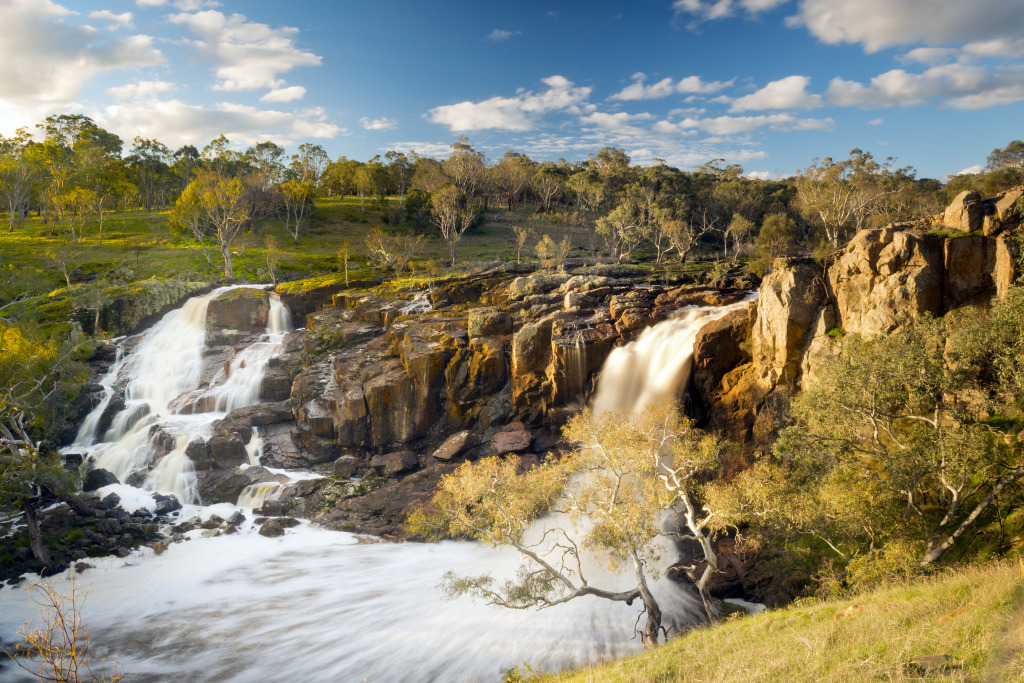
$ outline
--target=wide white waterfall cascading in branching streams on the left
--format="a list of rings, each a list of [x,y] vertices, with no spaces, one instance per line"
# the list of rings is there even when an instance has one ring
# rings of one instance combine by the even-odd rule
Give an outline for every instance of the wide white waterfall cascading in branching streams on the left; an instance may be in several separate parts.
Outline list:
[[[152,467],[142,477],[143,488],[173,494],[185,503],[198,500],[195,467],[185,455],[188,442],[196,437],[208,438],[216,420],[259,400],[267,364],[281,352],[285,335],[292,328],[287,307],[280,297],[271,295],[264,334],[236,354],[227,369],[214,376],[209,388],[201,389],[207,310],[211,301],[231,289],[223,287],[188,299],[145,332],[129,353],[122,354],[119,348],[115,364],[100,380],[103,398],[86,417],[75,439],[75,447],[84,450],[96,467],[109,470],[121,481]],[[98,434],[119,382],[124,385],[125,407],[114,417],[110,429]],[[179,413],[181,401],[176,399],[190,392],[198,392],[191,402],[209,412]],[[251,447],[262,444],[258,434],[254,439]],[[169,452],[168,443],[172,444]],[[254,451],[253,455],[258,463],[259,454]]]

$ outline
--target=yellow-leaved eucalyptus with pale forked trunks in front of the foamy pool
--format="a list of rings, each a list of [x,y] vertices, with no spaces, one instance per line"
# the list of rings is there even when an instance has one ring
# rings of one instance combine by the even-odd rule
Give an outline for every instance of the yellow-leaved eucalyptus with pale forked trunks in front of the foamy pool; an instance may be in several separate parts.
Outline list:
[[[515,575],[503,581],[452,570],[442,582],[444,593],[513,609],[551,607],[584,596],[639,600],[647,617],[640,636],[653,647],[666,632],[650,589],[666,552],[658,522],[666,511],[675,511],[681,524],[668,535],[701,547],[703,566],[684,571],[709,618],[716,620],[708,593],[718,567],[714,514],[695,497],[697,477],[719,462],[716,439],[693,429],[674,403],[601,416],[585,411],[569,421],[564,435],[570,452],[549,454],[525,471],[515,456],[463,464],[414,514],[410,525],[417,531],[469,537],[513,548],[521,557]],[[591,583],[595,564],[621,568],[636,583],[626,590],[602,588]]]

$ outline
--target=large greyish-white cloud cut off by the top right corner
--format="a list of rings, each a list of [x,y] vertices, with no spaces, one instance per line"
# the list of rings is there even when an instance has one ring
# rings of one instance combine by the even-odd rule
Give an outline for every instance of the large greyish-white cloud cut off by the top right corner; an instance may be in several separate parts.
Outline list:
[[[868,52],[915,43],[963,45],[1024,32],[1024,11],[1007,0],[802,0],[791,24],[825,43]]]

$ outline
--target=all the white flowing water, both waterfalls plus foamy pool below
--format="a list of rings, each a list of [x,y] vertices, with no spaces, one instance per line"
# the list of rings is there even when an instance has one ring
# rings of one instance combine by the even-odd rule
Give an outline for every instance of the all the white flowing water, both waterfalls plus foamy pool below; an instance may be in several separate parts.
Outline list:
[[[229,289],[194,297],[168,313],[132,350],[119,354],[102,379],[102,402],[83,422],[76,449],[122,481],[136,474],[137,488],[110,487],[125,507],[152,507],[151,494],[162,493],[188,504],[182,520],[226,518],[237,509],[196,505],[196,474],[185,447],[209,436],[226,412],[259,400],[263,372],[281,351],[290,323],[281,302],[271,299],[265,333],[201,386],[207,306]],[[697,330],[738,305],[745,304],[686,309],[616,349],[602,371],[598,410],[678,395]],[[99,416],[117,386],[125,407],[100,434]],[[165,440],[170,434],[173,447],[150,469],[160,434]],[[257,437],[250,444],[254,463],[258,443]],[[252,492],[243,499],[254,507],[261,500]],[[384,543],[308,523],[268,539],[255,532],[251,510],[245,512],[249,520],[234,535],[201,538],[197,529],[160,555],[143,548],[126,558],[89,560],[95,568],[79,582],[88,594],[82,615],[94,652],[117,653],[133,681],[426,682],[497,681],[502,670],[523,663],[554,672],[641,648],[634,633],[638,605],[585,597],[518,611],[467,598],[445,602],[437,590],[449,570],[511,577],[519,560],[514,551],[458,542]],[[545,523],[538,523],[538,532]],[[666,566],[672,556],[665,553]],[[590,564],[594,585],[635,585],[630,574],[604,568],[600,558]],[[67,572],[54,579],[63,592],[68,582]],[[671,581],[654,582],[652,592],[666,626],[699,618],[699,602]],[[28,621],[39,623],[28,592],[0,590],[0,639],[14,642]],[[0,680],[8,679],[18,680],[9,666],[0,669]]]

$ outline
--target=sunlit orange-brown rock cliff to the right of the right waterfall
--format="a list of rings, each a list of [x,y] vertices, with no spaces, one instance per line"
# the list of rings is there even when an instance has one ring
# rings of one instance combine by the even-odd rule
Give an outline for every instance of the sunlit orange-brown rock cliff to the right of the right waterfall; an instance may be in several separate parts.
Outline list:
[[[733,313],[697,336],[694,389],[714,423],[749,452],[763,450],[785,424],[790,397],[846,334],[886,335],[912,317],[1005,296],[1020,274],[1011,230],[1021,195],[983,201],[965,193],[941,230],[862,230],[827,268],[776,261],[748,315]]]

